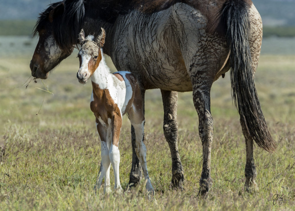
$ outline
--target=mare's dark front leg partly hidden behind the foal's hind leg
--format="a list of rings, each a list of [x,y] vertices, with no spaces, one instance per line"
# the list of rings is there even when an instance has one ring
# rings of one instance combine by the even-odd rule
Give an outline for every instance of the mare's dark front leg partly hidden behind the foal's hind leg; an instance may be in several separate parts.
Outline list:
[[[145,90],[141,88],[141,96],[142,96],[142,108],[143,113],[145,112]],[[144,141],[144,137],[142,138],[142,141]],[[131,125],[131,145],[132,145],[132,167],[129,175],[129,187],[136,186],[141,179],[141,167],[140,167],[140,161],[137,158],[135,148],[136,148],[136,138],[135,138],[135,131],[134,126]]]

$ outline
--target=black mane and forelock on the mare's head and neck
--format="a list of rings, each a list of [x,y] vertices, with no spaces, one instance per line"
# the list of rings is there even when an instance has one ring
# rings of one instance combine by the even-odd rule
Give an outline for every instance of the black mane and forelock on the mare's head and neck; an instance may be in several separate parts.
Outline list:
[[[78,34],[82,28],[85,15],[84,0],[63,0],[50,4],[44,12],[40,13],[33,35],[36,36],[40,30],[44,29],[49,22],[50,12],[60,4],[64,4],[65,10],[62,15],[53,19],[52,32],[60,48],[71,48],[77,43]]]

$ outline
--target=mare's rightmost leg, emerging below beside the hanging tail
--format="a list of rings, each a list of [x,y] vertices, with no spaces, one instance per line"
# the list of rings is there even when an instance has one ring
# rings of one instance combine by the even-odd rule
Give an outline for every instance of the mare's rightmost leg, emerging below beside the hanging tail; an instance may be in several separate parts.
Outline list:
[[[246,142],[245,191],[251,193],[253,191],[258,191],[257,184],[255,183],[257,172],[253,158],[253,140],[249,136],[249,133],[247,133],[243,121],[240,121],[240,123],[242,125],[242,131]]]

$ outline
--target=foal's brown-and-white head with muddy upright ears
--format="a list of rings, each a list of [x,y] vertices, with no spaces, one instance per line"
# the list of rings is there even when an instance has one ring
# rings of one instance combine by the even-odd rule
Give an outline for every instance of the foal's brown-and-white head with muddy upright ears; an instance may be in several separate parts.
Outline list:
[[[85,84],[99,66],[105,36],[106,33],[103,28],[101,28],[101,34],[97,37],[88,35],[85,38],[84,30],[81,30],[78,37],[81,45],[81,50],[78,53],[80,68],[77,73],[77,78],[81,84]]]

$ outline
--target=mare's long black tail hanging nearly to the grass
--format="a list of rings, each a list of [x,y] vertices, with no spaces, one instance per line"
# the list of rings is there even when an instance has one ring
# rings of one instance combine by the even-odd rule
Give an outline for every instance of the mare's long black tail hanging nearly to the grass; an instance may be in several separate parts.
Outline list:
[[[250,6],[245,0],[228,0],[221,11],[230,47],[230,78],[232,97],[248,135],[266,151],[274,151],[275,145],[268,131],[255,89],[251,52],[248,42]]]

